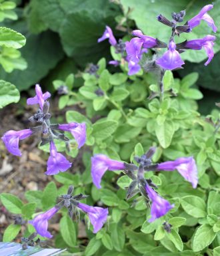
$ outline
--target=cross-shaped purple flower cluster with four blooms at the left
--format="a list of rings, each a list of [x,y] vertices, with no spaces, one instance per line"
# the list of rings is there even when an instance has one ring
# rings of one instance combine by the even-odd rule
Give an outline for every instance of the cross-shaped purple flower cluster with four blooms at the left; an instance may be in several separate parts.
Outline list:
[[[35,86],[35,92],[35,97],[27,99],[27,105],[39,104],[39,109],[29,120],[31,122],[37,122],[40,125],[21,131],[9,130],[3,134],[2,140],[11,154],[21,156],[19,140],[23,140],[36,132],[41,132],[41,145],[50,144],[50,156],[47,160],[47,172],[45,172],[45,174],[53,175],[59,172],[65,172],[71,167],[71,162],[69,162],[63,154],[57,152],[54,140],[64,141],[68,150],[69,138],[64,135],[63,131],[71,132],[77,141],[78,148],[81,148],[86,140],[85,123],[79,124],[72,122],[70,124],[51,124],[49,102],[47,102],[51,94],[49,92],[43,94],[38,84]]]

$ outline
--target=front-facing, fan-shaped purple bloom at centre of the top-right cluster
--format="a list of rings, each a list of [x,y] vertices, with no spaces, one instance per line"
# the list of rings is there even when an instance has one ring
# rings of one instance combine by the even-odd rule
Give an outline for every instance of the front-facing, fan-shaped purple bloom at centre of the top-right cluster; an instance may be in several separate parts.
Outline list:
[[[168,51],[166,51],[162,57],[156,60],[157,65],[165,70],[175,70],[176,68],[182,68],[184,64],[180,54],[176,51],[176,45],[174,41],[169,42]]]

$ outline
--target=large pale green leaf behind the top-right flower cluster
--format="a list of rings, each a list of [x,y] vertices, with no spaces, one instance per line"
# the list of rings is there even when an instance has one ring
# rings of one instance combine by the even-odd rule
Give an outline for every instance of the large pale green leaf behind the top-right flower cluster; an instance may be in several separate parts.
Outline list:
[[[152,37],[158,37],[159,39],[166,42],[169,41],[169,37],[171,35],[171,28],[157,21],[157,16],[159,14],[164,15],[165,17],[167,17],[167,19],[171,19],[171,13],[185,10],[185,22],[197,15],[197,13],[199,13],[203,6],[208,4],[207,1],[201,0],[121,0],[121,3],[123,7],[125,7],[125,10],[127,10],[128,7],[131,7],[132,11],[130,17],[131,19],[135,20],[137,27],[141,29],[143,33]],[[214,1],[214,3],[215,7],[213,8],[213,10],[209,11],[209,15],[211,15],[215,23],[218,24],[220,21],[220,1],[216,0]],[[191,33],[181,33],[180,38],[177,39],[177,42],[185,41],[185,39],[201,38],[210,33],[213,33],[211,28],[207,25],[207,23],[205,23],[205,21],[202,21],[198,27],[193,28],[193,31],[191,31]],[[215,51],[219,51],[220,49],[220,39],[218,37],[218,33],[219,32],[217,32]],[[201,62],[203,61],[203,59],[206,58],[204,50],[189,50],[183,53],[181,56],[183,57],[183,59],[187,59],[192,62]]]

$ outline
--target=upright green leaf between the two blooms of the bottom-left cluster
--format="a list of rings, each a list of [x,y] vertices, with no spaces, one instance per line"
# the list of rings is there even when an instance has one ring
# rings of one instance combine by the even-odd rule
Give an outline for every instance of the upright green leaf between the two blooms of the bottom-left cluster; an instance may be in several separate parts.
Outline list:
[[[75,247],[77,235],[73,220],[69,216],[62,217],[60,221],[60,231],[65,243],[70,247]]]

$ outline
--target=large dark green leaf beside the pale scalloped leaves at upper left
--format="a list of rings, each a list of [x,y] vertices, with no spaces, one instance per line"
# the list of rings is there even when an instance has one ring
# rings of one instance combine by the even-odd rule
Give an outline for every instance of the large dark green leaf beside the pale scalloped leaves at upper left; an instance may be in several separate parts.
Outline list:
[[[21,49],[21,53],[27,61],[26,70],[14,70],[11,74],[6,74],[2,68],[0,70],[1,78],[16,84],[20,91],[39,82],[63,57],[59,37],[50,31],[40,35],[27,35],[27,44]]]

